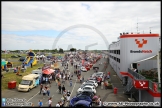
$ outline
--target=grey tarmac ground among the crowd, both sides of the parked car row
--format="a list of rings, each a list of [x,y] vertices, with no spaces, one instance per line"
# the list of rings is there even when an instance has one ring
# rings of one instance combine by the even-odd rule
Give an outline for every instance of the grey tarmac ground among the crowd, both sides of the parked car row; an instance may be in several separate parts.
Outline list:
[[[106,61],[106,59],[102,58],[100,59],[96,65],[99,64],[99,62],[104,62]],[[102,72],[107,72],[108,70],[105,70],[104,65],[98,65],[99,66],[99,71]],[[110,68],[110,67],[108,67]],[[62,67],[61,67],[62,69]],[[70,72],[74,72],[74,67],[69,65],[69,70]],[[90,77],[91,74],[94,73],[94,70],[89,70],[88,72],[82,72],[82,75],[84,76],[85,79],[88,79]],[[76,91],[77,89],[80,87],[80,83],[76,82],[76,75],[74,75],[73,77],[73,86],[70,87],[69,82],[66,81],[65,83],[65,88],[66,90],[70,90],[71,91],[71,98],[73,96],[76,95]],[[52,106],[55,106],[57,104],[58,101],[60,101],[62,95],[58,93],[58,87],[56,86],[55,82],[52,82],[51,84],[51,88],[50,88],[50,96],[52,97]],[[117,96],[118,95],[114,95],[113,94],[113,89],[108,89],[108,90],[101,90],[101,87],[99,86],[97,89],[97,95],[101,96],[102,101],[106,101],[106,102],[112,102],[114,99],[117,100]],[[119,97],[122,97],[119,95]],[[32,102],[35,106],[37,106],[38,104],[38,100],[43,98],[43,95],[39,95],[39,87],[32,89],[30,92],[18,92],[16,89],[12,89],[12,90],[6,90],[4,92],[2,92],[2,98],[25,98],[27,102]],[[45,97],[45,99],[42,99],[43,101],[43,106],[48,106],[48,98],[49,97]],[[121,99],[121,98],[120,98]],[[125,98],[124,98],[125,99]],[[68,103],[66,104],[66,106],[68,106]]]

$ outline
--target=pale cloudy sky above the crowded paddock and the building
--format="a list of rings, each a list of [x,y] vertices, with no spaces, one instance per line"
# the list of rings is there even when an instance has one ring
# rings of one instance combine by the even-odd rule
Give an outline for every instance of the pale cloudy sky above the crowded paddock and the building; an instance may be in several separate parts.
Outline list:
[[[160,10],[160,1],[2,1],[1,49],[107,50],[123,32],[161,36]]]

